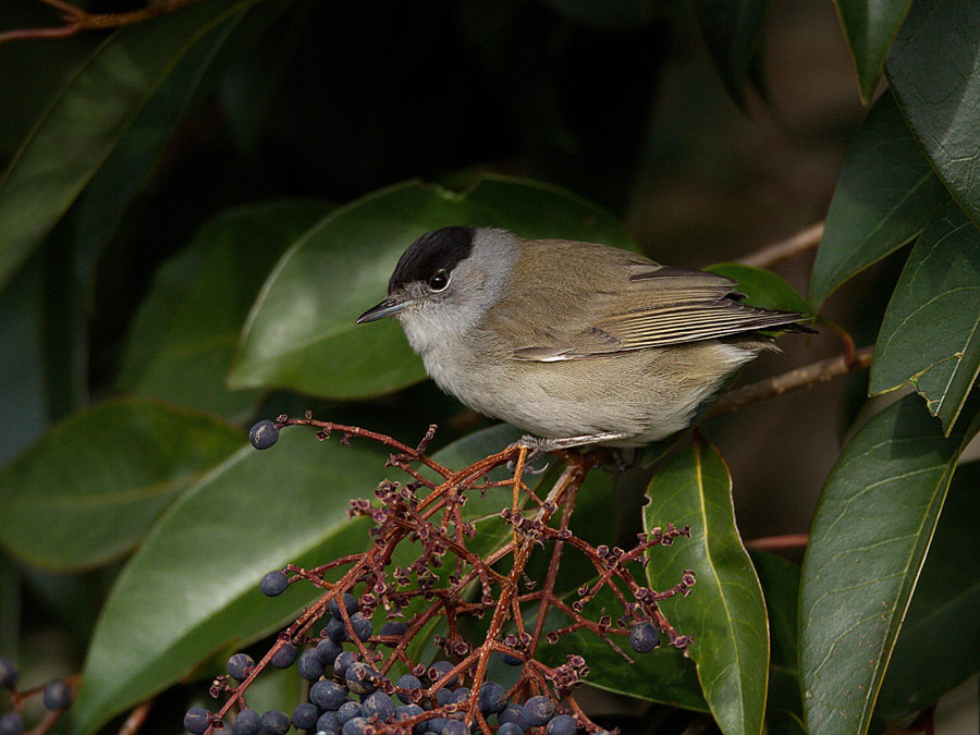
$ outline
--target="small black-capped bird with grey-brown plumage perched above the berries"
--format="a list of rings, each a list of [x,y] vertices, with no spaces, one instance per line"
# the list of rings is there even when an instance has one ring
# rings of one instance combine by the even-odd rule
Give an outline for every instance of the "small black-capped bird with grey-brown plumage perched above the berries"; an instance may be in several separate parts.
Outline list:
[[[640,446],[777,351],[758,330],[807,318],[748,306],[735,285],[608,245],[452,226],[405,250],[357,323],[397,319],[443,391],[542,438],[538,451]]]

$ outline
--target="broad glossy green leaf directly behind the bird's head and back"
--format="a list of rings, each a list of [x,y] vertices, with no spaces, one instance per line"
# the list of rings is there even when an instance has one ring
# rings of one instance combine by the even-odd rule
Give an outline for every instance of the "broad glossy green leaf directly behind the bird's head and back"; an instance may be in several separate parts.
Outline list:
[[[418,182],[392,186],[336,210],[280,260],[249,317],[231,385],[353,399],[422,380],[397,322],[354,320],[384,297],[413,241],[451,224],[633,245],[611,215],[543,184],[485,176],[460,194]]]

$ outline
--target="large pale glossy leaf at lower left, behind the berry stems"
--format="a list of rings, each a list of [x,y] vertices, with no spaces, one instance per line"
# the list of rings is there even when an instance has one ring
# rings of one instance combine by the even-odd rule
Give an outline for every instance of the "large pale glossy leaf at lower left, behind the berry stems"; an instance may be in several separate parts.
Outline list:
[[[72,706],[72,735],[186,676],[230,641],[255,640],[320,597],[292,585],[264,598],[258,581],[289,562],[315,565],[367,544],[346,516],[385,477],[384,452],[364,441],[318,443],[286,429],[270,450],[250,446],[187,490],[120,574],[102,610]]]

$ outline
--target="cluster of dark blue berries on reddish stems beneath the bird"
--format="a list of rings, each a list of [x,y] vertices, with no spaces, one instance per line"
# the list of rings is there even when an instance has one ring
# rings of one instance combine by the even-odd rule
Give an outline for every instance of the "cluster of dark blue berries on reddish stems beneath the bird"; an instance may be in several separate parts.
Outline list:
[[[246,653],[229,659],[228,675],[219,676],[211,687],[212,696],[224,696],[226,701],[213,713],[204,708],[188,711],[184,725],[193,735],[210,735],[225,720],[234,735],[284,735],[290,727],[326,735],[605,733],[573,696],[589,672],[583,657],[567,654],[564,663],[550,666],[539,658],[540,647],[583,629],[627,659],[613,641],[616,635],[628,638],[637,653],[657,648],[661,637],[678,649],[689,642],[666,621],[658,602],[686,596],[695,584],[693,573],[660,592],[634,576],[645,567],[653,547],[689,536],[688,529],[667,526],[642,534],[629,551],[592,547],[568,529],[576,492],[586,474],[601,462],[601,451],[560,454],[566,469],[541,498],[523,481],[527,450],[519,445],[454,473],[425,455],[434,427],[412,449],[356,427],[314,421],[309,414],[304,419],[282,416],[274,424],[257,425],[253,444],[270,448],[287,425],[316,426],[320,439],[343,431],[345,443],[357,436],[393,446],[400,453],[389,464],[407,473],[412,481],[405,486],[382,482],[375,492],[377,503],[351,502],[351,517],[373,522],[372,546],[367,551],[311,569],[291,564],[262,578],[259,588],[270,597],[297,581],[314,584],[324,595],[280,634],[260,661]],[[486,479],[491,469],[509,463],[514,465],[511,479]],[[434,470],[442,480],[427,479],[416,465]],[[506,529],[502,538],[510,540],[500,541],[492,552],[483,549],[481,555],[473,550],[477,528],[462,507],[467,493],[497,488],[511,491],[498,516]],[[402,543],[417,552],[407,566],[392,562]],[[525,569],[534,552],[549,548],[552,563],[538,586],[527,579]],[[580,587],[571,603],[555,591],[559,561],[567,550],[583,553],[597,573],[596,580]],[[339,574],[339,579],[330,581]],[[585,615],[603,589],[622,608],[615,621],[604,607],[597,611],[598,620]],[[568,625],[546,630],[544,620],[552,610],[563,613]],[[384,623],[376,632],[382,611]],[[464,625],[467,618],[486,615],[489,626]],[[527,626],[527,621],[535,622]],[[432,633],[436,624],[441,626],[438,635]],[[473,641],[464,635],[467,629],[483,633]],[[417,660],[422,642],[434,642],[444,658],[431,665]],[[494,681],[488,670],[491,659],[518,669],[516,683],[504,686]],[[260,715],[248,709],[246,689],[267,665],[296,665],[310,682],[309,701],[292,715],[275,710]]]

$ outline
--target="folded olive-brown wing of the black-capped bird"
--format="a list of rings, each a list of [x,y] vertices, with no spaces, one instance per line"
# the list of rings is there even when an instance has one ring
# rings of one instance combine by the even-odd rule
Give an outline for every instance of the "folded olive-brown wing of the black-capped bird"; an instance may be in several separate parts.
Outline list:
[[[569,298],[539,286],[512,299],[504,310],[536,324],[529,338],[514,344],[513,356],[579,359],[772,329],[806,318],[743,304],[735,281],[715,273],[660,266],[630,254],[605,270],[598,282],[609,284],[608,290]]]

